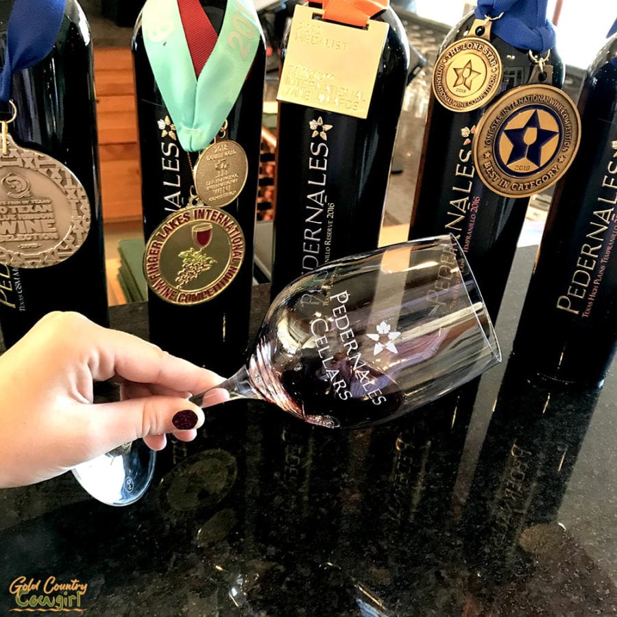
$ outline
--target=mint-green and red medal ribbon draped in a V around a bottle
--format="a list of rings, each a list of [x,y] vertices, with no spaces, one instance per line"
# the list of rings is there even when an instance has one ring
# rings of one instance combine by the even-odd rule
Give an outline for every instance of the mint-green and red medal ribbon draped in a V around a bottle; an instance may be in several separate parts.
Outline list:
[[[207,22],[207,25],[206,25]],[[186,152],[204,149],[234,106],[261,38],[252,0],[229,0],[217,36],[199,0],[147,0],[145,50]]]

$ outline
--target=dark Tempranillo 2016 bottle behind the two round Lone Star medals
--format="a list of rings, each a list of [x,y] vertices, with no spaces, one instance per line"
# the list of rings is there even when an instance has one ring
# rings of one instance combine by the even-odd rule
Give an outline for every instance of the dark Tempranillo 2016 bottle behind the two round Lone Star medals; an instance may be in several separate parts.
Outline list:
[[[443,48],[465,36],[475,17],[465,17],[444,40]],[[527,84],[533,63],[527,49],[517,49],[492,36],[503,62],[501,91]],[[553,86],[564,82],[564,66],[551,49]],[[492,101],[493,102],[493,101]],[[476,173],[472,155],[474,127],[485,108],[452,112],[431,96],[418,171],[409,239],[453,234],[467,255],[495,321],[529,197],[503,197]]]

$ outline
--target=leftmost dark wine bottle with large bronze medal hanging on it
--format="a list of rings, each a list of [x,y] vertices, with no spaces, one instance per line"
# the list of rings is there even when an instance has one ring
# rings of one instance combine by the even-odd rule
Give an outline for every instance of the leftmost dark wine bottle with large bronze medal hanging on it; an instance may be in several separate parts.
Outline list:
[[[18,3],[0,2],[1,62]],[[6,346],[49,311],[78,311],[108,324],[92,40],[75,0],[66,0],[60,17],[47,56],[12,74],[14,121],[7,127],[8,152],[0,154],[0,327]],[[36,31],[36,20],[47,16],[35,11],[28,19]]]

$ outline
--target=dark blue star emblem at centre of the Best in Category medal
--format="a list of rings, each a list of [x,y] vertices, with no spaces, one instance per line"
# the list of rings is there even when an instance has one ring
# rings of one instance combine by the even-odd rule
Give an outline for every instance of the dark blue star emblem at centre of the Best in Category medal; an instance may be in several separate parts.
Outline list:
[[[503,133],[502,140],[509,142],[511,146],[505,160],[507,167],[524,162],[538,169],[551,160],[559,145],[559,130],[547,125],[546,121],[540,118],[537,109],[533,110],[522,127],[505,128]],[[516,167],[513,169],[516,170]]]

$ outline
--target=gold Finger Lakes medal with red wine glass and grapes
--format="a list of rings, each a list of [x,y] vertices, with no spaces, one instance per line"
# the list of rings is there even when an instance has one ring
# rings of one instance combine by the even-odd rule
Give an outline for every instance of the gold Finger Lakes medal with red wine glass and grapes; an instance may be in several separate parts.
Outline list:
[[[152,291],[171,304],[201,304],[234,280],[245,254],[244,234],[232,215],[189,206],[167,217],[145,247],[143,271]]]

